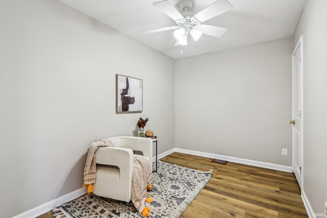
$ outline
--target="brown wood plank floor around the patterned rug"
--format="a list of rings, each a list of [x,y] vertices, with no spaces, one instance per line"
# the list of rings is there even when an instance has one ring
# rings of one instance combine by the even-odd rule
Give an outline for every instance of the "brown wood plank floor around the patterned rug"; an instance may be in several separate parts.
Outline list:
[[[292,173],[173,153],[160,160],[200,171],[212,178],[180,217],[308,217]],[[158,169],[160,171],[160,169]],[[52,217],[52,211],[38,218]]]

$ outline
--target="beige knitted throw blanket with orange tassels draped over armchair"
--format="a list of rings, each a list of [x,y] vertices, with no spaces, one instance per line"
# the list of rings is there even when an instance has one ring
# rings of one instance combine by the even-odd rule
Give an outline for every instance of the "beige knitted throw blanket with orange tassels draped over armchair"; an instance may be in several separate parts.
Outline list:
[[[86,163],[84,167],[84,184],[91,185],[96,182],[97,164],[95,153],[99,147],[114,147],[109,139],[97,139],[92,142],[88,150]],[[132,175],[132,202],[138,212],[142,213],[144,202],[146,200],[147,186],[153,180],[152,168],[149,161],[143,157],[133,158]],[[88,191],[91,192],[91,191]]]

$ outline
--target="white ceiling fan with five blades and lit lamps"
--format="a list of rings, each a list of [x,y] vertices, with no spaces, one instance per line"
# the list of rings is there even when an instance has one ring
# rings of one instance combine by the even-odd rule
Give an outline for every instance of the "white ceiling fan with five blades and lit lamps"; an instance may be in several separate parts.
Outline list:
[[[143,32],[144,34],[157,33],[166,30],[174,30],[174,37],[177,45],[187,45],[188,35],[191,34],[194,41],[197,41],[202,34],[214,37],[221,37],[226,31],[226,28],[204,25],[202,22],[223,14],[233,7],[227,0],[218,0],[209,5],[197,14],[191,12],[193,3],[191,0],[182,0],[179,4],[181,13],[174,8],[169,1],[161,1],[153,3],[155,7],[167,14],[176,22],[176,26],[159,28]]]

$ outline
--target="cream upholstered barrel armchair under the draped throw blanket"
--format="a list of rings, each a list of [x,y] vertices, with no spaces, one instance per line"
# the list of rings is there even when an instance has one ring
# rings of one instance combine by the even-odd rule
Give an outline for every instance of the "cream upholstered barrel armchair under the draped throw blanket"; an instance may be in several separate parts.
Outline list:
[[[114,147],[100,147],[96,151],[97,179],[93,193],[105,198],[129,202],[131,200],[133,151],[143,153],[152,166],[152,140],[134,136],[108,138]]]

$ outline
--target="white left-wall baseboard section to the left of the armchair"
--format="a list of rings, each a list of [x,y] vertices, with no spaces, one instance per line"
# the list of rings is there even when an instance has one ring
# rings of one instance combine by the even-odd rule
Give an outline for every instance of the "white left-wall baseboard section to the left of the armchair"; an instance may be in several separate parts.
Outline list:
[[[53,210],[55,207],[59,207],[60,205],[66,203],[66,202],[77,199],[77,198],[85,195],[86,193],[87,193],[86,188],[77,189],[75,191],[67,193],[64,196],[61,196],[52,201],[46,202],[45,204],[34,207],[24,213],[20,213],[16,216],[13,216],[13,218],[31,218],[31,217],[36,217],[36,216],[42,215],[43,213]]]

